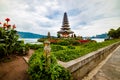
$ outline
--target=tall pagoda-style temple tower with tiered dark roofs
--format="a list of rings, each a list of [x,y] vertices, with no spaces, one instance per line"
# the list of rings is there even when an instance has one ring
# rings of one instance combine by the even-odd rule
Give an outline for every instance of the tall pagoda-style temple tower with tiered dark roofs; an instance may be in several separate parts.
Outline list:
[[[57,33],[60,34],[61,37],[64,37],[64,38],[70,37],[70,34],[74,33],[73,31],[70,30],[66,12],[64,13],[64,16],[63,16],[62,28]]]

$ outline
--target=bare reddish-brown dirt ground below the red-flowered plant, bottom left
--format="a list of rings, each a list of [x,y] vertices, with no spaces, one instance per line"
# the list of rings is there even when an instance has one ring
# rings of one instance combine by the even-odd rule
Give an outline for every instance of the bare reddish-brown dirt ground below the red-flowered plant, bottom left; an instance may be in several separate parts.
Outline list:
[[[27,57],[32,53],[30,50]],[[29,80],[27,69],[28,64],[23,56],[13,56],[10,62],[0,62],[0,80]]]

